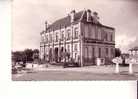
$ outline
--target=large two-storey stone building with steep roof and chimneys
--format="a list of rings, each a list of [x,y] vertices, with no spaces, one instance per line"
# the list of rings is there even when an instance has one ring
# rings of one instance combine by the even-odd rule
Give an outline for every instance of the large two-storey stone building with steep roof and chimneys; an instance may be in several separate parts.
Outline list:
[[[48,62],[73,61],[92,65],[96,59],[114,58],[115,29],[99,22],[97,12],[71,11],[48,25],[41,33],[40,57]]]

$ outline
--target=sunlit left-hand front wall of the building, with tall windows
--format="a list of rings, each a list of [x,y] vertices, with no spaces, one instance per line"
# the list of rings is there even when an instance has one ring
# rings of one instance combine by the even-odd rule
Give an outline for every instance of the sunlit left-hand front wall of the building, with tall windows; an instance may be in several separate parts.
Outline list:
[[[78,31],[78,38],[77,39],[73,39],[74,37],[74,29],[77,28],[77,31]],[[70,40],[67,40],[67,31],[70,30]],[[64,37],[66,38],[66,40],[61,40],[61,37],[62,37],[62,33],[64,33]],[[52,35],[52,42],[50,42],[50,36],[49,35]],[[58,36],[58,41],[56,42],[56,35]],[[45,33],[44,35],[42,35],[41,37],[41,40],[44,39],[44,42],[45,42],[45,53],[48,54],[49,53],[49,49],[50,48],[55,48],[55,47],[58,47],[59,48],[59,45],[60,46],[64,46],[65,47],[65,42],[66,41],[66,49],[68,48],[69,46],[69,52],[71,54],[71,57],[75,58],[76,54],[77,56],[79,55],[79,48],[80,48],[80,45],[79,45],[79,35],[80,35],[80,24],[74,24],[74,25],[71,25],[71,26],[68,26],[68,27],[63,27],[59,30],[55,30],[55,31],[51,31],[51,32],[48,32],[48,33]],[[47,39],[48,41],[47,41]],[[60,41],[60,43],[59,43]],[[73,42],[73,43],[72,43]],[[54,46],[53,46],[54,45]],[[77,46],[77,51],[74,50],[74,47],[75,45]],[[41,56],[43,56],[42,54],[44,54],[44,47],[41,48]]]

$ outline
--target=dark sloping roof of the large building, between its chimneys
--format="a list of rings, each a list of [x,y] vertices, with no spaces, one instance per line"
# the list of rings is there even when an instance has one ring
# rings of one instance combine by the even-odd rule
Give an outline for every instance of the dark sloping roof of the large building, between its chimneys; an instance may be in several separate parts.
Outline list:
[[[98,25],[106,27],[106,28],[114,29],[112,27],[108,27],[108,26],[102,25],[100,22],[94,23],[92,16],[91,16],[90,20],[91,21],[89,23],[98,24]],[[72,24],[76,24],[79,21],[84,22],[84,23],[87,22],[87,12],[86,12],[86,10],[82,10],[80,12],[75,13],[74,22]],[[47,31],[58,30],[60,28],[67,27],[69,25],[71,25],[71,17],[70,17],[70,15],[53,22],[51,25],[48,26]]]

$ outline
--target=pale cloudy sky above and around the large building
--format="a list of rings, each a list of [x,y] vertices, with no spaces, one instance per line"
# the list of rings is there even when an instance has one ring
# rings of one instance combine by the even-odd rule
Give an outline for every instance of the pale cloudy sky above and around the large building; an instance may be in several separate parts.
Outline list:
[[[39,49],[45,21],[51,24],[73,9],[98,12],[102,24],[116,29],[122,52],[138,46],[138,0],[13,0],[12,50]]]

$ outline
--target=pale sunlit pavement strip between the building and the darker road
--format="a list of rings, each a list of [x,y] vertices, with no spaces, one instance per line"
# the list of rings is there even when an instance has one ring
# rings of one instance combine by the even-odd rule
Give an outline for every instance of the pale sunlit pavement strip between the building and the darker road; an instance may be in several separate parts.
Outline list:
[[[128,74],[129,67],[119,67],[120,73]],[[30,68],[31,71],[29,72],[39,72],[39,71],[72,71],[72,72],[91,72],[95,74],[114,74],[115,73],[115,65],[104,65],[104,66],[84,66],[84,67],[67,67],[63,68],[62,66],[55,66],[55,65],[37,65],[35,64],[34,67]],[[138,66],[133,66],[133,72],[138,74]],[[27,73],[27,71],[24,71]]]

